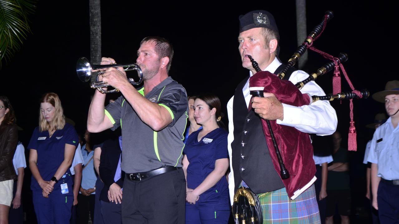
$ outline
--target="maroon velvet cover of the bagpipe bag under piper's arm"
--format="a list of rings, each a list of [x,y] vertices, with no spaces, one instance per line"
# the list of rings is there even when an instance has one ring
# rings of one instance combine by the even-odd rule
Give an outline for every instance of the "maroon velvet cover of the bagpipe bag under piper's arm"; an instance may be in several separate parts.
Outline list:
[[[288,80],[281,80],[275,74],[261,71],[249,78],[249,87],[265,87],[263,92],[275,94],[280,102],[292,106],[308,105],[308,94],[302,94],[299,89]],[[263,133],[269,147],[269,153],[275,170],[280,175],[280,165],[277,159],[273,141],[267,128],[266,120],[261,119]],[[270,121],[274,136],[279,146],[282,160],[290,173],[290,178],[282,180],[288,196],[294,196],[294,192],[303,188],[316,174],[313,160],[313,147],[309,134],[300,132],[290,126],[279,125],[275,120]]]

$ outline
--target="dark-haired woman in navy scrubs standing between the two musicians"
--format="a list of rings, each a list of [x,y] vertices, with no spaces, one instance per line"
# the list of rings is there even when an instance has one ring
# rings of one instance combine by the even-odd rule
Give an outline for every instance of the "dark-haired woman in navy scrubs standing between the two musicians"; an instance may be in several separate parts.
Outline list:
[[[197,96],[194,118],[202,129],[188,137],[184,148],[186,223],[227,223],[230,203],[225,173],[229,153],[219,98],[212,94]]]

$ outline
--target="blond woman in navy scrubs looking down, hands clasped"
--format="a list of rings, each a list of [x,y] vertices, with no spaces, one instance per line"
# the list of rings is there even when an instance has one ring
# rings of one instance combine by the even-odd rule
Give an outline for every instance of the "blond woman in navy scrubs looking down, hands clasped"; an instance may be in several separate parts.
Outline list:
[[[33,204],[39,224],[68,224],[73,203],[69,167],[79,138],[65,123],[57,94],[47,93],[40,102],[39,126],[28,145]]]

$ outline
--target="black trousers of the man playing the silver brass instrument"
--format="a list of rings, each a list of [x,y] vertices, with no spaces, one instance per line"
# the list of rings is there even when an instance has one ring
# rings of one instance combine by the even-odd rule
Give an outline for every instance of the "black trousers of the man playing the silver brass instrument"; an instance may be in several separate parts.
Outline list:
[[[183,169],[123,182],[122,223],[184,224],[186,179]]]

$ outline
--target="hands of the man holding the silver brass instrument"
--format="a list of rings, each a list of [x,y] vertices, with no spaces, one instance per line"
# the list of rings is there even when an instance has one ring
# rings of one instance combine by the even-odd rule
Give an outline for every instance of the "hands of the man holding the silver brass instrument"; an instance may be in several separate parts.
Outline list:
[[[115,60],[111,57],[101,58],[101,65],[111,65],[115,63],[116,63]],[[128,83],[126,72],[122,67],[107,68],[101,70],[103,74],[99,76],[99,81],[104,81],[105,83],[113,86],[116,89],[119,89],[123,84]],[[100,69],[93,71],[100,71]]]

